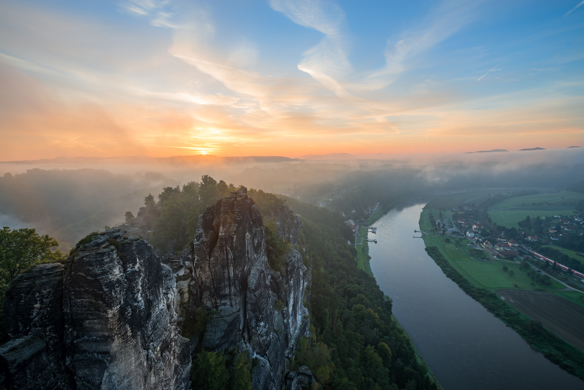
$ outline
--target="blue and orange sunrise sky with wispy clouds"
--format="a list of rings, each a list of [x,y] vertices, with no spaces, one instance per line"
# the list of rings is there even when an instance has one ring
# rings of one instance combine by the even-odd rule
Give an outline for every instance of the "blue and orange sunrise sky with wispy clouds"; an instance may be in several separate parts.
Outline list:
[[[584,146],[584,1],[0,0],[0,85],[2,161]]]

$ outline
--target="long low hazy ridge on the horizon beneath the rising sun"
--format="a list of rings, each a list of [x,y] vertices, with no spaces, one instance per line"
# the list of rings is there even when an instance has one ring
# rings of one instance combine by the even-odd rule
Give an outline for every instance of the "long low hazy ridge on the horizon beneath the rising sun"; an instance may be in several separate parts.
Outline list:
[[[218,157],[213,154],[194,154],[192,156],[171,157],[55,157],[41,160],[0,161],[0,164],[169,164],[169,165],[193,165],[193,164],[230,164],[230,163],[282,163],[286,161],[298,161],[298,158],[282,156],[241,156]]]

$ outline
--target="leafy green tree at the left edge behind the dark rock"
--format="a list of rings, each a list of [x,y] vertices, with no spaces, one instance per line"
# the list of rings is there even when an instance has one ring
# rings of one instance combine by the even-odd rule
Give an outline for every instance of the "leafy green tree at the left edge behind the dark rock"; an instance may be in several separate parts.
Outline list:
[[[45,234],[39,236],[35,229],[13,229],[4,226],[0,230],[0,278],[5,283],[14,279],[20,272],[43,261],[62,258],[61,251],[51,252],[58,247],[57,240]]]

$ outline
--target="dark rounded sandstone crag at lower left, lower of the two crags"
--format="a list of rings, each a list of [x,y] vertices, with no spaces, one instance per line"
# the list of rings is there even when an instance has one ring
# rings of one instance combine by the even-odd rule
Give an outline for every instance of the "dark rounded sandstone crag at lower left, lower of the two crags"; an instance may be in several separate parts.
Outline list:
[[[19,275],[5,312],[20,338],[0,348],[11,367],[9,388],[188,388],[190,348],[176,327],[175,278],[148,243],[124,233],[91,237],[65,267]]]

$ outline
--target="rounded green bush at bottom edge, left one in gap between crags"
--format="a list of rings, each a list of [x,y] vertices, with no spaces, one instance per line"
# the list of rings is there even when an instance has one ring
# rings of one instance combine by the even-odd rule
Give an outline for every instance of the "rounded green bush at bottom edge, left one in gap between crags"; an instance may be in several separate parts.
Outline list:
[[[225,367],[223,353],[202,351],[197,354],[190,371],[190,380],[196,390],[227,390],[229,372]]]

